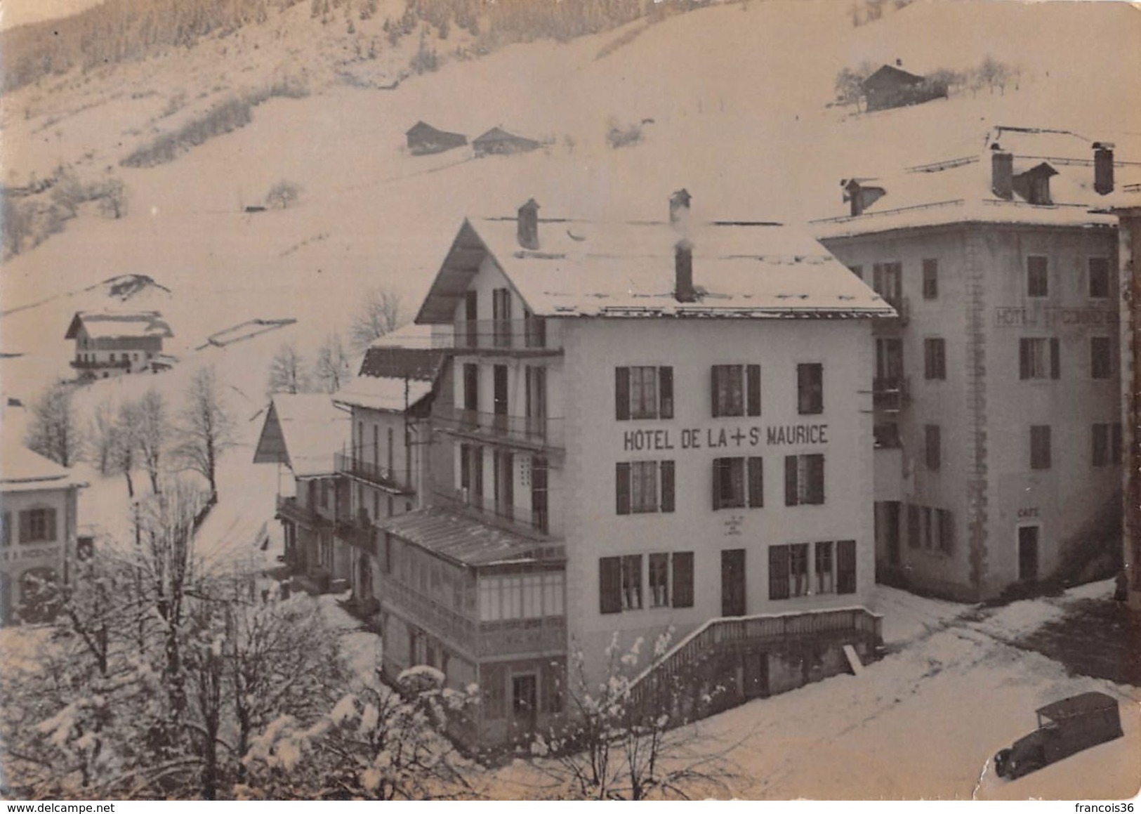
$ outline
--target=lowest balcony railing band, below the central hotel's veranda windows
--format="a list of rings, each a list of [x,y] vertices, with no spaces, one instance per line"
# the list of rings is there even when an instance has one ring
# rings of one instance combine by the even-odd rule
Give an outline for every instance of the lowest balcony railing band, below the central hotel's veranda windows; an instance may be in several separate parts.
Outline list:
[[[475,658],[565,653],[565,616],[485,622],[445,607],[391,575],[381,578],[381,603]]]

